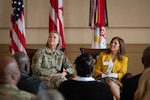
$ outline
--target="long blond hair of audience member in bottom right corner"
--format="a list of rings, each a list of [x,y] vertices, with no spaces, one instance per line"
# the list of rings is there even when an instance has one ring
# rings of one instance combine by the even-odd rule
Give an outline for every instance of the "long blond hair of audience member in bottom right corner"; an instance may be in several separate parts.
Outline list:
[[[150,68],[145,69],[138,83],[138,88],[134,94],[134,100],[150,99]]]

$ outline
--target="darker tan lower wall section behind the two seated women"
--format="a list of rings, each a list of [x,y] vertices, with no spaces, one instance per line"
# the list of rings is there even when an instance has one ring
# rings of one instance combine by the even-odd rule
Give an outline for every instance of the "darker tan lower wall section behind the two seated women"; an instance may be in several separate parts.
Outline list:
[[[45,44],[27,44],[27,48],[36,48],[39,49]],[[143,65],[141,62],[141,57],[143,50],[150,46],[150,44],[126,44],[126,55],[129,58],[128,72],[133,73],[133,75],[143,71]],[[67,44],[66,51],[67,56],[72,64],[77,56],[81,54],[79,48],[87,47],[90,48],[90,44]],[[0,56],[8,55],[8,44],[0,44]]]

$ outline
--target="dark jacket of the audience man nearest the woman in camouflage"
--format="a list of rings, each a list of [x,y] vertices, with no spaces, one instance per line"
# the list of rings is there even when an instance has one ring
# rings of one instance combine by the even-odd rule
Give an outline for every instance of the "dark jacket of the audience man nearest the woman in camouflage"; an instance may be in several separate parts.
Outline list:
[[[38,78],[21,73],[21,79],[17,84],[18,88],[33,94],[47,90],[46,84]]]

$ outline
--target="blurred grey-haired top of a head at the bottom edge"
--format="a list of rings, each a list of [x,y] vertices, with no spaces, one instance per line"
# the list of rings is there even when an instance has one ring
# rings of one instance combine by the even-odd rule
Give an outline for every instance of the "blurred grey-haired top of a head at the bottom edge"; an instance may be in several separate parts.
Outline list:
[[[51,89],[38,93],[33,100],[64,100],[64,97],[58,90]]]

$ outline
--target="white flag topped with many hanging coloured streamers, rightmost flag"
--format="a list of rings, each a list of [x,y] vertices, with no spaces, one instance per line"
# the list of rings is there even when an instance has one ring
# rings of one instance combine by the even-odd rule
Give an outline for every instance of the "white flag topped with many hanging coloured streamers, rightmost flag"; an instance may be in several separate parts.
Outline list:
[[[106,0],[90,0],[89,26],[93,29],[92,48],[106,48]]]

